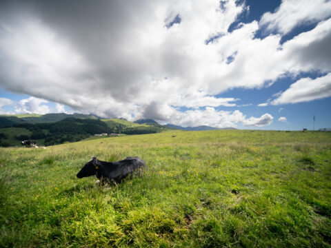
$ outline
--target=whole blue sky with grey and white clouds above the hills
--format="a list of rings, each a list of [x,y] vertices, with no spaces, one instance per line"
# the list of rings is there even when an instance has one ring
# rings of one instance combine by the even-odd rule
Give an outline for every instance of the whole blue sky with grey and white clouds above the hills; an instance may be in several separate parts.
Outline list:
[[[0,114],[331,127],[330,44],[330,0],[1,0]]]

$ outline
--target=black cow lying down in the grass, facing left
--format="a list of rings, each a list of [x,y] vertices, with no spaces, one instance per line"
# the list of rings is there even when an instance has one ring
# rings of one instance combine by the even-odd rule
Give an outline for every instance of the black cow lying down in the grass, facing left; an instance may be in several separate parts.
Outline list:
[[[105,183],[107,180],[121,183],[121,180],[129,174],[134,172],[139,174],[145,168],[146,162],[137,156],[117,162],[99,161],[95,156],[92,156],[92,159],[78,172],[77,178],[95,175],[101,183]]]

